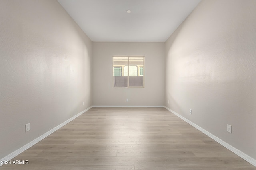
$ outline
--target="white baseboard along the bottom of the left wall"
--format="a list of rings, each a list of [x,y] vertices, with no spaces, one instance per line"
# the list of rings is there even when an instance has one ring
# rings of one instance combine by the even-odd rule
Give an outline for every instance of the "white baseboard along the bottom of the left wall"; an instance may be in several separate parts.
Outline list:
[[[39,141],[41,141],[42,139],[48,137],[50,134],[54,133],[55,131],[57,131],[58,129],[60,129],[61,127],[63,127],[64,125],[68,124],[70,121],[76,119],[76,117],[82,115],[84,112],[88,111],[89,109],[91,109],[91,107],[88,107],[87,109],[81,111],[80,113],[78,113],[77,115],[71,117],[70,119],[68,119],[67,121],[64,121],[63,123],[61,123],[60,125],[54,127],[53,129],[51,129],[50,131],[44,133],[43,135],[41,135],[40,137],[34,139],[33,141],[31,141],[30,143],[24,145],[23,147],[21,147],[18,150],[15,150],[14,152],[12,152],[11,154],[5,156],[4,158],[0,159],[0,162],[2,161],[7,161],[7,160],[11,160],[12,158],[18,156],[19,154],[21,154],[22,152],[24,152],[25,150],[27,150],[28,148],[32,147],[33,145],[35,145],[36,143],[38,143]],[[2,166],[3,164],[0,164],[0,166]]]

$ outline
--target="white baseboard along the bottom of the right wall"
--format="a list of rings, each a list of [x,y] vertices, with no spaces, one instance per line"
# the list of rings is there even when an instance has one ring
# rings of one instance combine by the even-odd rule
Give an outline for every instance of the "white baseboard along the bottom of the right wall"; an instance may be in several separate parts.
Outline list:
[[[245,154],[244,152],[236,149],[235,147],[229,145],[228,143],[226,143],[225,141],[222,141],[220,138],[212,135],[210,132],[206,131],[205,129],[203,129],[202,127],[196,125],[195,123],[193,123],[192,121],[186,119],[185,117],[179,115],[178,113],[176,113],[175,111],[169,109],[168,107],[164,106],[164,108],[166,108],[168,111],[172,112],[174,115],[180,117],[180,119],[186,121],[188,124],[192,125],[193,127],[195,127],[196,129],[198,129],[199,131],[201,131],[202,133],[204,133],[205,135],[207,135],[208,137],[212,138],[214,141],[220,143],[220,145],[226,147],[228,150],[234,152],[236,155],[240,156],[241,158],[243,158],[244,160],[246,160],[247,162],[249,162],[250,164],[252,164],[253,166],[256,166],[256,160],[250,156],[248,156],[247,154]]]

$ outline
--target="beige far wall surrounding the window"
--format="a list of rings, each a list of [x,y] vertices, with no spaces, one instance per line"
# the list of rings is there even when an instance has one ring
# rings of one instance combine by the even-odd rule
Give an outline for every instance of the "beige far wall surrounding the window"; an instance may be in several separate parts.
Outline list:
[[[92,51],[93,105],[163,106],[164,43],[93,43]],[[145,88],[112,88],[113,55],[145,56]]]

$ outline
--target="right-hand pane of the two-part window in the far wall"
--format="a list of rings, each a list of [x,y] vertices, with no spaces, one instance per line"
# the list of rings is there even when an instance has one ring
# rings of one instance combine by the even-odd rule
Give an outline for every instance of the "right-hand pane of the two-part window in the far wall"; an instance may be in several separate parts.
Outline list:
[[[143,67],[144,67],[144,57],[129,57],[129,86],[130,87],[144,86]]]

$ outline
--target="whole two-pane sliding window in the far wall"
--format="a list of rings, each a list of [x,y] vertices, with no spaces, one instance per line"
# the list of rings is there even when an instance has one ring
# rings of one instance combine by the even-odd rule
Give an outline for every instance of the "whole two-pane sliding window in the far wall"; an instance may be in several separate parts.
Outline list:
[[[143,88],[144,57],[113,56],[113,87]]]

